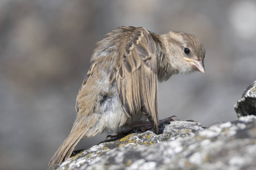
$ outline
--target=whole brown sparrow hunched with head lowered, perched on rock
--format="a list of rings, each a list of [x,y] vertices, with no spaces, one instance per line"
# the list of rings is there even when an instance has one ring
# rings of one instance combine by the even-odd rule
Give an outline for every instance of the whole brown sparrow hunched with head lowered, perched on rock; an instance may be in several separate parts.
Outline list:
[[[175,74],[205,73],[205,49],[195,35],[158,35],[143,27],[118,27],[97,42],[76,99],[71,133],[47,169],[67,160],[82,138],[122,133],[148,120],[158,133],[158,82]]]

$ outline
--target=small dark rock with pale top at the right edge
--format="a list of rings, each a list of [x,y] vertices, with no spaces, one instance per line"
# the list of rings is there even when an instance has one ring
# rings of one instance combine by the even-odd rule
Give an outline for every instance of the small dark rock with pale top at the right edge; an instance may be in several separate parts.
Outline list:
[[[243,91],[242,97],[234,105],[237,117],[256,116],[256,80]]]

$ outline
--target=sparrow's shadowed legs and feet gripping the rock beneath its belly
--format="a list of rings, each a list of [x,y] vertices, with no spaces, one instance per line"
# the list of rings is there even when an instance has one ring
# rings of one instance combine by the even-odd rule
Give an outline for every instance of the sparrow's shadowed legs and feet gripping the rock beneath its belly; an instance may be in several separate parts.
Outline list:
[[[163,124],[164,122],[167,122],[167,121],[173,121],[174,120],[174,117],[176,116],[171,116],[171,117],[167,117],[167,118],[164,118],[162,120],[159,120],[159,125],[160,124]],[[152,125],[150,124],[149,121],[144,121],[144,122],[135,122],[133,124],[130,124],[129,126],[127,126],[128,128],[124,131],[121,131],[120,133],[117,133],[116,135],[108,135],[106,137],[106,139],[108,138],[118,138],[118,137],[121,137],[123,134],[126,134],[128,133],[129,131],[131,130],[134,130],[135,131],[138,131],[138,130],[141,130],[141,131],[146,131],[147,129],[151,129],[152,128]]]

